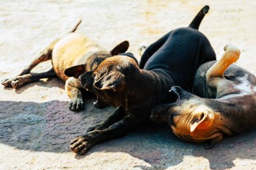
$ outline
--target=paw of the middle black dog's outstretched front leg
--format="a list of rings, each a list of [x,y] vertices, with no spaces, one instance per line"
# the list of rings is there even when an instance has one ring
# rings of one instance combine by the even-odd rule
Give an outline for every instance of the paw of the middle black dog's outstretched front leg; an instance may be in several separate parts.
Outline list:
[[[70,142],[70,149],[74,153],[78,153],[79,155],[84,155],[94,143],[92,142],[92,138],[90,136],[79,136]]]

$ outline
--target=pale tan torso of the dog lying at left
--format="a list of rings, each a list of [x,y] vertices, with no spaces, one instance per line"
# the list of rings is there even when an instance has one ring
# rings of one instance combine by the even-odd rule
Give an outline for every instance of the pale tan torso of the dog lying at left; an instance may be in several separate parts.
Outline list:
[[[64,74],[65,69],[85,64],[88,56],[86,54],[99,49],[98,45],[86,36],[71,33],[59,40],[53,48],[53,69],[59,78],[66,81],[69,77]]]

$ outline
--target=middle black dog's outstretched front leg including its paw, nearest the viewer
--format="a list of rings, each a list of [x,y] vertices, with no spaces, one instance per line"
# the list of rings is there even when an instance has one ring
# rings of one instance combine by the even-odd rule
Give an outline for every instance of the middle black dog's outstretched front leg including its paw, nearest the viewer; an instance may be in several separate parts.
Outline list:
[[[129,130],[141,124],[143,121],[144,119],[137,118],[133,114],[128,114],[123,119],[119,120],[119,122],[116,122],[104,130],[94,130],[84,136],[79,136],[71,140],[70,148],[74,153],[84,155],[86,151],[95,144],[124,136]]]

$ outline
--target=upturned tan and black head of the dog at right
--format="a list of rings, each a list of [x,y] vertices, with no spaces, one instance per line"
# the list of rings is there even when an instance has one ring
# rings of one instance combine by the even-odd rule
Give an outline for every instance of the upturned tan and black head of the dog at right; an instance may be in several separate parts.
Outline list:
[[[156,123],[167,123],[172,132],[183,140],[207,142],[207,146],[210,142],[212,147],[214,139],[222,134],[214,128],[218,113],[214,111],[207,99],[197,97],[181,87],[172,87],[166,98],[172,103],[154,108],[150,120]]]

